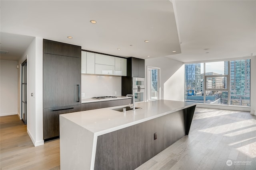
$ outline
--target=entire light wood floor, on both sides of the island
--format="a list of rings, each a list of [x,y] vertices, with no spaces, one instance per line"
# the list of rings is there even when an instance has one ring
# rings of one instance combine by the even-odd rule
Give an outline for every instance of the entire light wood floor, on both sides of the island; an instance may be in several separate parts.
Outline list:
[[[0,129],[1,170],[60,169],[59,140],[34,147],[26,125],[17,115],[0,117]],[[228,160],[231,166],[226,164]],[[256,170],[256,116],[242,111],[196,108],[189,135],[136,170],[169,169]]]

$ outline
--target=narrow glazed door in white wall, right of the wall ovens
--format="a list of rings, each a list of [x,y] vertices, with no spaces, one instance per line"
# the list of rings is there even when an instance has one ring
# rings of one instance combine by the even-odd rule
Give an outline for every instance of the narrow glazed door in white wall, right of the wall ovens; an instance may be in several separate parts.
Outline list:
[[[160,68],[148,66],[148,100],[159,100]]]

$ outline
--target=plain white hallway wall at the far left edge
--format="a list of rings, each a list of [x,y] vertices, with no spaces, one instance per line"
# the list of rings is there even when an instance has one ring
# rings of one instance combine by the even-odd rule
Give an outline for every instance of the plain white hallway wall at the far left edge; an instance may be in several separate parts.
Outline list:
[[[0,116],[15,115],[18,114],[18,62],[1,60],[0,63]]]

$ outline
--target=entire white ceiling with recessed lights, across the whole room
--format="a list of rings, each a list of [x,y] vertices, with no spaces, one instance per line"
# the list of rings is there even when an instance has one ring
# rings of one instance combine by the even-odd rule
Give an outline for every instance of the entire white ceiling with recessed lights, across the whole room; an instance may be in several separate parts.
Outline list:
[[[142,59],[192,62],[256,54],[255,0],[1,0],[0,5],[1,50],[9,51],[1,59],[17,60],[33,37]]]

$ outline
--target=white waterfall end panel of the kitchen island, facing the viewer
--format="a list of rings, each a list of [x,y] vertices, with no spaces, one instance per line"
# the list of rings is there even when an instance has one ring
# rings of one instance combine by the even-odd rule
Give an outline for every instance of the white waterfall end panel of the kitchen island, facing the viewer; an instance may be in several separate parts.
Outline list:
[[[60,169],[91,169],[94,142],[92,132],[60,115]]]

